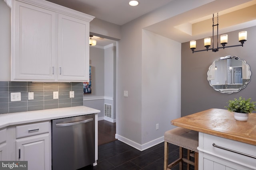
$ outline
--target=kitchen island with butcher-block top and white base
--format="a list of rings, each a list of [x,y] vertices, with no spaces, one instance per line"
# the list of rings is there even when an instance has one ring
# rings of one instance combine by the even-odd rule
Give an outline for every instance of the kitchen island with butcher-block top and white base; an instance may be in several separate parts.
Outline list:
[[[256,170],[256,114],[236,121],[225,109],[208,109],[171,121],[199,132],[199,170]]]

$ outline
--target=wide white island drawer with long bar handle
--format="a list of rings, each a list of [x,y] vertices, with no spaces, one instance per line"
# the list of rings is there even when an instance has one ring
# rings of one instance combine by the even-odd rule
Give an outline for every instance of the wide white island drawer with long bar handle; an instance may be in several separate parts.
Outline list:
[[[203,138],[204,152],[241,165],[246,164],[250,167],[256,167],[256,158],[251,157],[256,157],[255,145],[208,134],[204,134]]]

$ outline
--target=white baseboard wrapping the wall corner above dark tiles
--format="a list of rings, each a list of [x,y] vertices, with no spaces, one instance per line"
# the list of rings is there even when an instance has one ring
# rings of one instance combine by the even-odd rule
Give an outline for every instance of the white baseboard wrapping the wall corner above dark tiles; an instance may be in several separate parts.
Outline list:
[[[159,143],[164,142],[164,136],[162,136],[158,139],[154,139],[153,141],[150,141],[150,142],[142,144],[142,145],[140,145],[134,141],[131,141],[130,139],[122,137],[118,134],[115,135],[115,138],[118,139],[118,141],[126,143],[127,145],[130,145],[131,147],[134,147],[135,149],[138,149],[140,151],[146,150],[148,148],[154,147],[155,145],[158,145]]]

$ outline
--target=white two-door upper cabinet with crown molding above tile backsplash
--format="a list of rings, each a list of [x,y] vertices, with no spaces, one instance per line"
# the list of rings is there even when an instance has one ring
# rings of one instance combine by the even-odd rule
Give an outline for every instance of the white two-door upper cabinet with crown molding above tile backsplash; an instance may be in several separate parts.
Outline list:
[[[89,24],[94,18],[45,0],[11,6],[11,80],[89,80]]]

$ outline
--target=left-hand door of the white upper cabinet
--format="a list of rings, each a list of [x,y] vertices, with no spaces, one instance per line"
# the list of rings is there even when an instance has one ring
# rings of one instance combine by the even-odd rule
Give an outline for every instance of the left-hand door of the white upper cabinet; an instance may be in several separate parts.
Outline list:
[[[14,1],[11,80],[54,80],[56,13]]]

